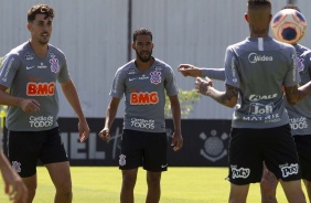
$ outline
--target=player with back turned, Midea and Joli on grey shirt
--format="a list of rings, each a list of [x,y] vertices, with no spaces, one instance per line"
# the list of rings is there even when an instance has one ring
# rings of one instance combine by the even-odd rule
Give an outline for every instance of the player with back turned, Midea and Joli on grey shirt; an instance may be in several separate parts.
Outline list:
[[[280,180],[289,202],[305,202],[282,85],[293,105],[310,93],[311,83],[298,88],[296,51],[268,35],[270,12],[270,1],[248,0],[245,19],[250,36],[227,47],[225,92],[212,87],[207,77],[195,82],[200,93],[236,107],[229,143],[229,202],[246,202],[249,183],[261,180],[262,161]]]

